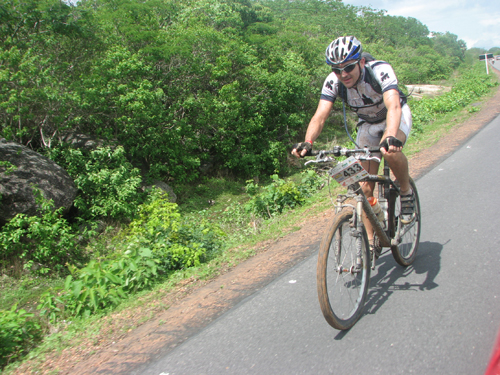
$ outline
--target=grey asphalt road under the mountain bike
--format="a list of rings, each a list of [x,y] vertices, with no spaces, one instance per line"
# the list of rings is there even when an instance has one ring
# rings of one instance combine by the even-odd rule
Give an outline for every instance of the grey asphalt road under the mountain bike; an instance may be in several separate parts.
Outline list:
[[[483,374],[500,327],[500,117],[417,180],[415,263],[378,261],[360,321],[324,320],[316,256],[132,374]]]

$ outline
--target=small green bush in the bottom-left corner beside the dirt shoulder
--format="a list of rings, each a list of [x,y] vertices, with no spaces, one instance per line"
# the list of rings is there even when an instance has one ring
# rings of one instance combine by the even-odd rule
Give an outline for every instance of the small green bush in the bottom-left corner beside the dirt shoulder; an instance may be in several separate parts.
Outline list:
[[[23,309],[17,310],[17,305],[0,311],[0,369],[18,360],[40,341],[42,329],[33,317],[34,314]]]

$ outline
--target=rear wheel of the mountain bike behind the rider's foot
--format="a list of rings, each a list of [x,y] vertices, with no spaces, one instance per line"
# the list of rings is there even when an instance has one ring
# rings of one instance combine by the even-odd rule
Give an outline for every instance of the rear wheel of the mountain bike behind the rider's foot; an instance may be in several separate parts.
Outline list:
[[[420,228],[422,225],[422,215],[420,211],[420,200],[418,198],[417,186],[413,179],[410,178],[410,185],[413,190],[413,194],[415,195],[415,218],[412,223],[406,226],[403,226],[403,231],[405,231],[404,235],[401,237],[401,242],[398,246],[392,246],[391,251],[396,262],[403,266],[408,267],[413,263],[417,256],[418,245],[420,243]],[[398,225],[398,216],[401,210],[401,201],[400,198],[396,198],[395,201],[395,213],[394,220],[395,225]],[[397,232],[397,230],[396,230]]]

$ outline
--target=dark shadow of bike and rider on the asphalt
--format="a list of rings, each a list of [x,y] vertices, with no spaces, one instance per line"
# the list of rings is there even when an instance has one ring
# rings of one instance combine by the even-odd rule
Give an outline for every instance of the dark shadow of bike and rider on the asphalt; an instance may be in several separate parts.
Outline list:
[[[441,269],[441,252],[446,243],[441,245],[430,241],[421,242],[417,258],[411,266],[406,268],[396,263],[390,250],[384,251],[382,256],[377,260],[375,270],[372,270],[370,288],[368,289],[364,313],[361,319],[365,315],[375,314],[396,291],[419,292],[437,288],[439,285],[434,279]],[[405,281],[410,274],[414,273],[419,275],[424,274],[425,280],[420,284],[412,284]],[[335,339],[342,339],[348,331],[339,332]]]

